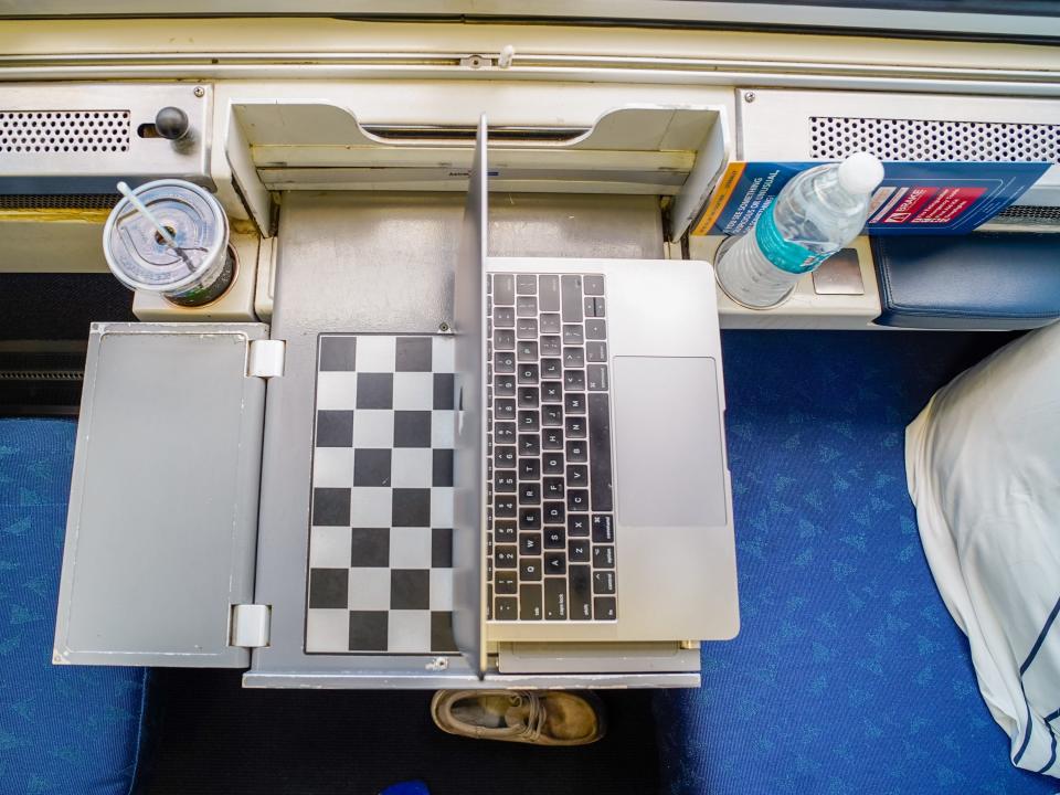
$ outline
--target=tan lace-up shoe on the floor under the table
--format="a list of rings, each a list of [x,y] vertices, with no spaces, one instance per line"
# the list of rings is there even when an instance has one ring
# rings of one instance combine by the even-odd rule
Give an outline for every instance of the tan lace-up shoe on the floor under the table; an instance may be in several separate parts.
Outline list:
[[[604,704],[589,690],[438,690],[431,717],[449,734],[533,745],[587,745],[606,729]]]

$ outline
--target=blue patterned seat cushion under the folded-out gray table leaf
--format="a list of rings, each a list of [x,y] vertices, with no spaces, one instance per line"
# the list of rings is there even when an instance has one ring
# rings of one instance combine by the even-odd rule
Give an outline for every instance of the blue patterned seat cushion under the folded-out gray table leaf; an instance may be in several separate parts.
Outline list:
[[[147,669],[52,665],[76,425],[0,420],[0,792],[130,792]]]

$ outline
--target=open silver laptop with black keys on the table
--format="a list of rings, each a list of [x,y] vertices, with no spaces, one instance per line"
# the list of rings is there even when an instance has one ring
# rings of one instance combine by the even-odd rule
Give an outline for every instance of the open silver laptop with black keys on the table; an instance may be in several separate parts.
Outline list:
[[[478,129],[455,280],[457,644],[739,629],[713,271],[487,256]]]

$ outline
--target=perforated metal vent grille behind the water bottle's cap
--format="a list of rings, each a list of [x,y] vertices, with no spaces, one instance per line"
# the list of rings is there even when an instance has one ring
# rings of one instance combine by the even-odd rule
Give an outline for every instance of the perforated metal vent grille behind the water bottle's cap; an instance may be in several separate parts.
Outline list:
[[[812,116],[815,160],[867,151],[881,160],[1060,163],[1060,125]]]

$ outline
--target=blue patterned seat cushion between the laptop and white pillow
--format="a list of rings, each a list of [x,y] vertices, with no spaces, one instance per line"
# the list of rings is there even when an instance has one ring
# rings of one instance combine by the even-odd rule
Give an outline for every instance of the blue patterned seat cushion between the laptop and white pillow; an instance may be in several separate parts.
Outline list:
[[[723,333],[741,632],[655,698],[667,792],[1060,789],[1010,764],[905,489],[905,425],[1000,341]]]

